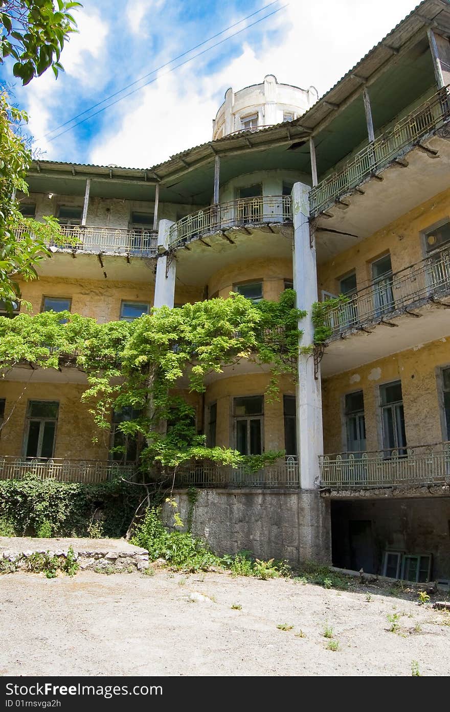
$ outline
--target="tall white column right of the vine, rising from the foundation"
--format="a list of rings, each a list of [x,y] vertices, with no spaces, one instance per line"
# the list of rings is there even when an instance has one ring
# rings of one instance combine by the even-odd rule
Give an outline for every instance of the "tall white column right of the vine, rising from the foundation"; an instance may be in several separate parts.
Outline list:
[[[301,346],[313,343],[314,327],[311,320],[311,305],[318,299],[315,244],[310,246],[309,187],[295,183],[292,191],[294,249],[293,281],[297,294],[296,306],[308,311],[298,322],[303,331]],[[314,377],[312,354],[298,357],[297,447],[300,465],[300,483],[303,489],[313,489],[319,478],[319,455],[323,454],[322,393],[320,369]]]

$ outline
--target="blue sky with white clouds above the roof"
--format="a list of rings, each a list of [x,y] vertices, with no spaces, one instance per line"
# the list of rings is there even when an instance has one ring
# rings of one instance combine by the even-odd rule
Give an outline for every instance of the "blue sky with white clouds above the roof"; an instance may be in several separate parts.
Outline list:
[[[274,74],[278,82],[313,85],[323,95],[416,5],[414,0],[84,0],[83,9],[74,12],[78,33],[61,54],[65,72],[55,79],[48,70],[26,87],[14,84],[13,100],[28,112],[33,151],[43,159],[151,167],[211,139],[212,120],[230,86],[238,90]],[[0,78],[11,83],[11,68],[6,65]]]

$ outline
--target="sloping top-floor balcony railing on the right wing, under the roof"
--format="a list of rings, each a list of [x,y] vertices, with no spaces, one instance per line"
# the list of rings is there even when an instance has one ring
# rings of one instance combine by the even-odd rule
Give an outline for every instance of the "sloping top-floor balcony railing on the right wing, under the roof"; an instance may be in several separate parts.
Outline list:
[[[325,210],[449,119],[450,98],[446,86],[363,148],[340,170],[313,187],[309,194],[311,214]]]

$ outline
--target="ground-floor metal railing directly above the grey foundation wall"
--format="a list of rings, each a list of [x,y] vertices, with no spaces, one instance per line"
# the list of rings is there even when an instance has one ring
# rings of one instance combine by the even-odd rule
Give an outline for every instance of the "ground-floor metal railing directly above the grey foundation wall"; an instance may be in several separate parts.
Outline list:
[[[244,467],[220,466],[211,463],[196,463],[180,467],[175,475],[177,487],[300,487],[298,460],[287,456],[284,464],[267,465],[257,472],[248,472]]]

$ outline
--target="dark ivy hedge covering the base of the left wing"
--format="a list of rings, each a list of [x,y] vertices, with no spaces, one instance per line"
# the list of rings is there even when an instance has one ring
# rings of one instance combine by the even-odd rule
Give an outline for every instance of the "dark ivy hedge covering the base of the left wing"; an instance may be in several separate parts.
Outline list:
[[[88,536],[93,514],[100,509],[104,535],[123,536],[139,496],[135,486],[120,481],[90,485],[33,476],[1,480],[4,535]]]

